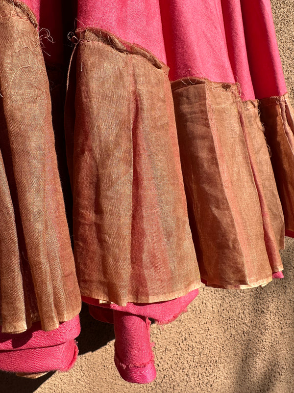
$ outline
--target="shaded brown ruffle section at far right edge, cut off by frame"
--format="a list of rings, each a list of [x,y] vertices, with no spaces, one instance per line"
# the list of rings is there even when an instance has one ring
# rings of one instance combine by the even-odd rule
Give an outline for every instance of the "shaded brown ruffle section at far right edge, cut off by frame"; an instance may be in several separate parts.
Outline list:
[[[260,113],[270,146],[286,234],[294,237],[294,110],[288,93],[261,100]]]

